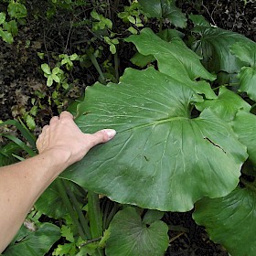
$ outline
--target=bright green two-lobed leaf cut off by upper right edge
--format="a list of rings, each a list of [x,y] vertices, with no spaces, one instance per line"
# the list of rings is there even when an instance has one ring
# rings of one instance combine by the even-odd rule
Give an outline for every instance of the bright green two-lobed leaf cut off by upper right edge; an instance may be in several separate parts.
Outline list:
[[[231,46],[231,52],[251,66],[240,69],[240,91],[246,91],[251,100],[256,101],[256,43],[238,42]]]

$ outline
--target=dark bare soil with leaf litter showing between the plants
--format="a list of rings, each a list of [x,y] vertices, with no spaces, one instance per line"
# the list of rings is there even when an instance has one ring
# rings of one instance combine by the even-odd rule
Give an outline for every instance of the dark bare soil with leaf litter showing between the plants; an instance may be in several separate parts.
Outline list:
[[[256,41],[255,0],[247,1],[246,5],[245,1],[241,0],[176,2],[187,14],[201,14],[213,25],[238,32]],[[59,17],[63,27],[65,24],[62,20],[63,17]],[[69,27],[60,33],[58,27],[51,27],[54,25],[44,24],[42,21],[43,19],[39,18],[28,18],[27,25],[20,27],[12,45],[0,40],[0,120],[2,121],[22,116],[24,111],[31,108],[31,99],[35,97],[35,92],[44,91],[46,88],[46,79],[39,69],[43,61],[37,57],[37,52],[61,53],[63,48],[67,48]],[[73,42],[75,39],[80,40],[79,34],[75,36],[77,38],[72,37]],[[67,51],[72,51],[72,48],[68,48]],[[133,56],[133,49],[121,44],[119,55],[121,59],[119,71],[122,74],[125,67],[131,66],[129,59]],[[80,73],[80,68],[74,70],[74,77],[76,73]],[[83,91],[86,85],[98,80],[97,71],[93,67],[86,69],[82,77],[79,75],[79,79],[80,89],[74,92],[73,99],[80,95],[80,91]],[[51,89],[48,89],[46,93],[50,95],[51,92]],[[48,123],[50,116],[58,114],[57,106],[48,104],[47,99],[48,97],[45,97],[42,100],[41,104],[45,107],[37,113],[37,127],[42,127]],[[62,110],[66,107],[64,105]],[[39,128],[35,133],[38,133],[37,130]],[[227,251],[220,245],[209,240],[205,229],[198,227],[191,215],[192,212],[165,214],[164,220],[170,226],[171,240],[165,255],[228,256]]]

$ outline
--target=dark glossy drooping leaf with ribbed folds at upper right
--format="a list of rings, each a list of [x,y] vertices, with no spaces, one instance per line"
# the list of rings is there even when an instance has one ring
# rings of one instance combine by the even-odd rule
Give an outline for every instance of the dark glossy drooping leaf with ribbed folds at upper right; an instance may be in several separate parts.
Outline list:
[[[201,37],[194,42],[192,48],[203,57],[203,63],[208,70],[232,74],[238,73],[244,66],[240,59],[231,54],[230,46],[236,42],[251,43],[249,38],[219,27],[207,27],[206,24],[202,26],[201,22],[196,24],[194,31],[199,32]]]

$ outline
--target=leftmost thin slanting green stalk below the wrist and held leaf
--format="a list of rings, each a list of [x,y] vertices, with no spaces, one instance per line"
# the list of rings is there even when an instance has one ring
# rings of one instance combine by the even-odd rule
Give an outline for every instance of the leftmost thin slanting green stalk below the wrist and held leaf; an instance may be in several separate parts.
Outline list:
[[[71,219],[73,220],[75,226],[77,226],[77,229],[79,231],[81,239],[86,240],[85,234],[84,234],[83,230],[80,227],[80,222],[77,219],[75,211],[72,208],[72,205],[69,201],[69,197],[67,195],[67,192],[66,192],[65,185],[64,185],[63,181],[60,178],[57,178],[56,183],[57,183],[57,186],[59,188],[59,195],[62,198],[65,206],[67,207],[67,209],[69,211],[69,215],[70,215]]]

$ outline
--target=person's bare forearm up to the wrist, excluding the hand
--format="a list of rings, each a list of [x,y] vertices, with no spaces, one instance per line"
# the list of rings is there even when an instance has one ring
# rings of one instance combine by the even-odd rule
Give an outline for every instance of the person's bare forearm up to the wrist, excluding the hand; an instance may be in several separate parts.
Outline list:
[[[0,253],[49,184],[68,166],[53,152],[0,168]]]

